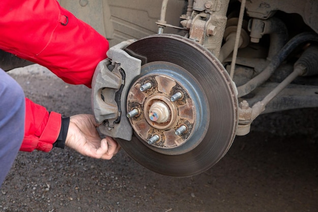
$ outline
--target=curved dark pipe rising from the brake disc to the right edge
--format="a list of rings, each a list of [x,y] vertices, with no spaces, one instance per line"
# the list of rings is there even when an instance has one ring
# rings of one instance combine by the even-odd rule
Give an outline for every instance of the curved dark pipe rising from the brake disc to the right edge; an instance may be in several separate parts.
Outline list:
[[[252,90],[263,84],[274,71],[280,66],[280,64],[286,59],[286,57],[300,44],[306,41],[318,42],[318,36],[315,33],[301,33],[292,38],[284,47],[274,56],[270,64],[259,75],[249,80],[244,85],[237,88],[238,97],[243,97],[249,94]]]

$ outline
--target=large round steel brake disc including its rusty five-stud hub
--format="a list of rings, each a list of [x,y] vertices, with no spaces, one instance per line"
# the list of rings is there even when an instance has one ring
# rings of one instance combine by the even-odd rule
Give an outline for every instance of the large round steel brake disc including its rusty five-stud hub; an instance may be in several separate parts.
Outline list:
[[[219,161],[238,124],[236,87],[204,47],[153,35],[124,49],[142,61],[126,109],[131,141],[117,139],[138,163],[164,175],[192,176]]]

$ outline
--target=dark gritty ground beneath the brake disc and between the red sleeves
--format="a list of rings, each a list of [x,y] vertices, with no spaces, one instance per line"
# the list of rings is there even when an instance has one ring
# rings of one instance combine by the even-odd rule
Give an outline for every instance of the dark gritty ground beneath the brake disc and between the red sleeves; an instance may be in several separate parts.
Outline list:
[[[63,116],[91,113],[90,90],[39,66],[12,72],[25,95]],[[265,114],[197,176],[151,172],[121,150],[112,160],[70,148],[19,152],[0,211],[318,211],[318,109]]]

